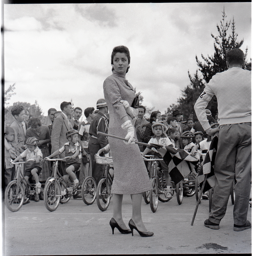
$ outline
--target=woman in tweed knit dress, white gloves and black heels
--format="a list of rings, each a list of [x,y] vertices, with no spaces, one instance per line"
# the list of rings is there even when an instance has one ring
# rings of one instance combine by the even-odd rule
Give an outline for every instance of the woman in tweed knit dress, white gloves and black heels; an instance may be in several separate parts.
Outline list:
[[[103,84],[104,97],[110,113],[108,134],[125,137],[128,140],[126,142],[108,137],[114,164],[114,179],[111,190],[113,194],[113,218],[110,225],[113,232],[115,227],[125,234],[136,229],[141,236],[152,236],[153,232],[147,231],[141,218],[142,193],[150,190],[151,185],[139,147],[132,142],[133,139],[137,140],[137,136],[131,121],[134,116],[137,116],[138,111],[134,113],[135,109],[130,107],[135,93],[134,88],[125,79],[129,63],[128,48],[125,46],[115,47],[111,56],[113,74],[107,77]],[[132,198],[133,212],[128,223],[131,230],[127,229],[122,218],[123,194],[130,194]]]

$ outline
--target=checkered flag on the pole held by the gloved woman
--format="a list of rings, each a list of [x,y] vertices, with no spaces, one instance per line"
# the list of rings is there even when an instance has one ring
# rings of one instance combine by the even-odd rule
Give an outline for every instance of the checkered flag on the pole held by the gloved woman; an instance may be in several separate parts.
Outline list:
[[[151,144],[163,157],[164,162],[169,167],[171,180],[177,185],[186,177],[198,163],[198,159],[189,152],[169,146]]]

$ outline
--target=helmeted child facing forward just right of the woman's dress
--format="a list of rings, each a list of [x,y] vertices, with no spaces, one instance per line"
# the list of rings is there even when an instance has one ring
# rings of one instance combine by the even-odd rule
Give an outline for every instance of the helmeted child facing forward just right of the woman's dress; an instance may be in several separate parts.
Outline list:
[[[156,120],[156,122],[152,122],[152,132],[153,134],[155,134],[153,137],[150,138],[149,140],[149,144],[153,143],[153,144],[160,144],[163,146],[173,146],[170,139],[167,137],[167,135],[164,133],[164,130],[166,129],[166,126],[162,123],[162,121],[158,121],[158,119]],[[162,158],[162,156],[158,153],[158,151],[152,147],[152,150],[154,151],[154,158]],[[145,150],[142,153],[142,156],[145,156],[147,153],[149,153],[151,151],[150,147],[146,147]],[[166,179],[166,191],[165,191],[165,195],[167,198],[171,199],[172,198],[172,194],[171,194],[171,182],[170,182],[170,175],[169,175],[169,168],[166,165],[166,163],[163,160],[159,160],[159,167],[161,167],[161,169],[164,172],[164,176]]]

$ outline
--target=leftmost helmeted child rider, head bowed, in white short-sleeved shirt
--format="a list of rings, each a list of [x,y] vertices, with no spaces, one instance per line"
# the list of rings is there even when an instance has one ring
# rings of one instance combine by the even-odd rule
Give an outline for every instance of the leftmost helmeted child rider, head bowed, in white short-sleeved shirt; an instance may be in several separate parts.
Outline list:
[[[39,174],[42,169],[42,152],[38,147],[39,140],[36,137],[29,137],[26,141],[27,149],[22,152],[16,159],[13,160],[13,162],[17,162],[19,159],[26,157],[26,160],[33,159],[34,162],[30,161],[25,164],[25,181],[28,182],[28,179],[31,178],[31,176],[34,177],[35,183],[36,183],[36,193],[34,200],[35,202],[38,202],[39,194],[41,191],[41,183],[39,182]],[[25,187],[24,187],[25,189]],[[26,190],[26,194],[29,194],[29,192]]]

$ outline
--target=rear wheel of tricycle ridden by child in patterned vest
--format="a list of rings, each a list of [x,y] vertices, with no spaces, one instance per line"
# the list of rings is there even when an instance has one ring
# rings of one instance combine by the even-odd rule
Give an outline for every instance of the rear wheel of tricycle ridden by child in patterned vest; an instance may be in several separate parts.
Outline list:
[[[85,178],[81,189],[82,199],[86,205],[91,205],[96,200],[97,185],[93,177],[88,176]]]

